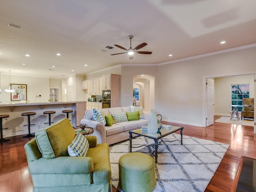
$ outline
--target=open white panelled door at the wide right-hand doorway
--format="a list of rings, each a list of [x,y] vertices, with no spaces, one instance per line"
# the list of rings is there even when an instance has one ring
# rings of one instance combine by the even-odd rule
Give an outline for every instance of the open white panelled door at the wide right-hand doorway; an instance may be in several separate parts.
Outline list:
[[[206,126],[211,126],[214,123],[214,80],[206,80]]]

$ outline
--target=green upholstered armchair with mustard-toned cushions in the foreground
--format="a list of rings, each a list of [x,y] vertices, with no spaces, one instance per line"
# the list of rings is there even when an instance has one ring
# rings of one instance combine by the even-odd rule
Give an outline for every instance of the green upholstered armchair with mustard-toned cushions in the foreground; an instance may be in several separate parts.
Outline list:
[[[67,149],[74,137],[66,118],[36,131],[24,146],[33,192],[112,192],[108,144],[88,136],[86,157],[71,157]]]

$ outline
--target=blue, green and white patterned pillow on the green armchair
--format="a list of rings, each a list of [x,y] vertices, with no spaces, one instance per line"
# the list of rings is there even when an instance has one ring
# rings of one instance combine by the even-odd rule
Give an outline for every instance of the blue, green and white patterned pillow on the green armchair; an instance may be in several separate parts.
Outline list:
[[[68,146],[69,156],[85,157],[89,148],[89,142],[84,135],[78,133],[72,143]]]

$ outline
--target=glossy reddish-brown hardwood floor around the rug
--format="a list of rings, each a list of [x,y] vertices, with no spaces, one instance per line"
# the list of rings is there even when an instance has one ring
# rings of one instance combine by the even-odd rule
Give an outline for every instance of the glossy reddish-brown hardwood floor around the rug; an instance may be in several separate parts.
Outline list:
[[[214,116],[214,120],[220,116]],[[167,122],[164,122],[167,124]],[[256,135],[253,127],[214,123],[210,127],[173,124],[184,127],[184,135],[214,140],[230,145],[206,192],[230,192],[241,155],[256,158]],[[28,139],[11,137],[0,144],[0,192],[32,192],[24,144]],[[114,192],[117,192],[113,188]]]

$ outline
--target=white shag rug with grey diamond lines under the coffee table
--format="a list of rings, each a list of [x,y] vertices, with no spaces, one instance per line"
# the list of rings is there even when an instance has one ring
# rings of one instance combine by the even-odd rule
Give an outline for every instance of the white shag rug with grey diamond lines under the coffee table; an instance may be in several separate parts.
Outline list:
[[[162,142],[158,147],[154,192],[204,192],[229,147],[228,144],[190,136],[183,136],[181,145],[180,134],[170,134],[163,140],[178,141]],[[154,140],[143,136],[132,140],[132,146],[153,143]],[[153,151],[150,146],[132,148],[132,152],[150,156]],[[129,140],[110,146],[112,184],[119,191],[122,190],[118,186],[118,160],[128,152]]]

